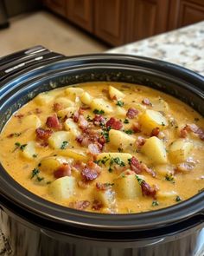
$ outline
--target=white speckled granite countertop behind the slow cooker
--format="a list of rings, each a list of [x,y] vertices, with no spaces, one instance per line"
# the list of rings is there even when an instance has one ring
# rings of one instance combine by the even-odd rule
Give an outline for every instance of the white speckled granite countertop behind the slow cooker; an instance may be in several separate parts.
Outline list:
[[[107,51],[173,62],[204,75],[204,21]]]

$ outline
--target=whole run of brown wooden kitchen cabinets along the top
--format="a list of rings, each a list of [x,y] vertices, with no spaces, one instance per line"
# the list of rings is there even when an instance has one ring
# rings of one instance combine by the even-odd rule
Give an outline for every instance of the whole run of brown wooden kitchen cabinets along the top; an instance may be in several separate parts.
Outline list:
[[[43,0],[43,3],[113,46],[204,20],[204,0]]]

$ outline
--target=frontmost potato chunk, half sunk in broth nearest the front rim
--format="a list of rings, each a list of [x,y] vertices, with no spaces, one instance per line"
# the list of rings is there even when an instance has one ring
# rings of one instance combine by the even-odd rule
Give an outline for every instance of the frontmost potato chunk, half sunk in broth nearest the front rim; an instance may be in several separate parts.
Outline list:
[[[103,207],[112,207],[115,203],[115,193],[112,189],[94,190],[93,198],[99,200]]]

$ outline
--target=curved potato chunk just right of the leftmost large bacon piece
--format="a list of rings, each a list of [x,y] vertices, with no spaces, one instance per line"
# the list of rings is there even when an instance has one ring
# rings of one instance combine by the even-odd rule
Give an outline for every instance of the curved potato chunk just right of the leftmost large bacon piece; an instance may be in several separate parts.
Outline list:
[[[51,148],[61,148],[63,141],[68,143],[73,140],[73,135],[70,132],[59,131],[55,132],[48,138],[48,144]]]

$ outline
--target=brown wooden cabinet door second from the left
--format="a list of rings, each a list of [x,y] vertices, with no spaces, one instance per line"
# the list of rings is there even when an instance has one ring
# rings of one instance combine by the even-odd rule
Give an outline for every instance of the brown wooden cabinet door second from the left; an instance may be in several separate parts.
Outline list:
[[[93,31],[93,3],[92,0],[68,0],[67,18],[81,28]]]

